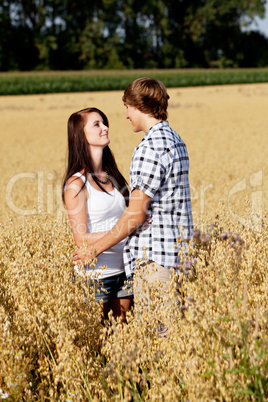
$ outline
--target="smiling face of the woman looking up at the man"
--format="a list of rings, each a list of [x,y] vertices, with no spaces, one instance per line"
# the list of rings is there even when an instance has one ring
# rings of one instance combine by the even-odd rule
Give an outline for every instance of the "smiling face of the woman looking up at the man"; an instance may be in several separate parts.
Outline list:
[[[109,129],[105,126],[101,115],[92,112],[87,115],[86,119],[84,133],[90,147],[106,147],[110,143]]]

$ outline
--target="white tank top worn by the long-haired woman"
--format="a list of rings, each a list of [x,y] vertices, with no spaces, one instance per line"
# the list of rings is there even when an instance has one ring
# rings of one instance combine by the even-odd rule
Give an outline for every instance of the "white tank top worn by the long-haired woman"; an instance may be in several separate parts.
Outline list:
[[[81,173],[75,173],[73,176],[80,177],[84,183],[86,181],[85,176]],[[87,200],[88,232],[97,233],[112,229],[125,210],[124,197],[116,188],[108,194],[96,190],[88,180],[86,188],[89,194]],[[125,272],[123,261],[125,243],[126,239],[98,255],[95,268],[85,266],[86,273],[90,275],[94,272],[94,278],[97,274],[99,278],[108,278]],[[75,269],[79,273],[78,266],[75,266]]]

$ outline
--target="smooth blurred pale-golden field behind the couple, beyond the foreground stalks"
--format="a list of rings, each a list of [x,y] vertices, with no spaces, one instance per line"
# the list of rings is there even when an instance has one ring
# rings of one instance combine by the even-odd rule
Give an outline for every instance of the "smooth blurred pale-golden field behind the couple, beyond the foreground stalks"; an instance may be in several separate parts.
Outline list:
[[[251,200],[256,191],[262,191],[265,209],[268,84],[174,88],[169,94],[170,125],[189,152],[195,221],[213,220],[222,203],[237,219],[247,219],[245,197]],[[142,133],[132,132],[121,97],[121,91],[0,97],[1,221],[14,214],[17,219],[24,210],[34,213],[38,193],[43,212],[62,208],[57,199],[67,119],[81,108],[95,105],[108,115],[111,148],[128,178]],[[243,189],[235,190],[241,181]]]

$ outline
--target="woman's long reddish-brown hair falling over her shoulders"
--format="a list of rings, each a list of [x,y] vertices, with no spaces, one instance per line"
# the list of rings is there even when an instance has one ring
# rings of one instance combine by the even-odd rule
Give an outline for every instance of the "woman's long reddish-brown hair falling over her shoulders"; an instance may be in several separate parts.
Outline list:
[[[84,133],[84,126],[86,124],[86,116],[90,113],[98,113],[103,123],[109,127],[107,116],[99,109],[95,107],[86,108],[73,113],[68,120],[68,164],[66,173],[63,179],[62,186],[62,199],[64,202],[64,190],[66,183],[70,177],[75,173],[84,171],[86,173],[94,173],[92,158],[89,152],[88,142]],[[128,205],[129,191],[128,183],[124,176],[119,171],[113,153],[107,145],[103,149],[102,155],[102,169],[108,172],[109,178],[112,181],[115,188],[123,195]],[[92,176],[95,183],[101,188],[102,191],[107,192],[101,184],[96,180],[95,176]],[[86,177],[87,180],[87,177]],[[86,183],[83,184],[80,191],[84,188]],[[80,192],[79,191],[79,192]],[[78,193],[79,194],[79,193]]]

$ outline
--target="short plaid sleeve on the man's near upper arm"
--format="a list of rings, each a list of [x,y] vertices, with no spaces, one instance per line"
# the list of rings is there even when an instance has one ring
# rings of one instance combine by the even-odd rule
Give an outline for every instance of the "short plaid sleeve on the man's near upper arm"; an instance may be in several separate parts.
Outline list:
[[[130,172],[130,190],[139,189],[153,198],[161,186],[165,167],[156,151],[140,147],[133,154]]]

